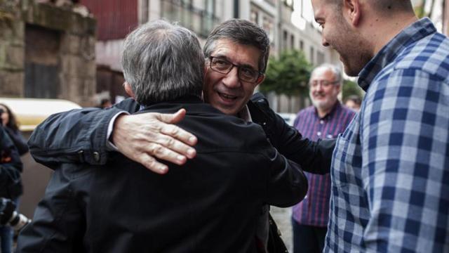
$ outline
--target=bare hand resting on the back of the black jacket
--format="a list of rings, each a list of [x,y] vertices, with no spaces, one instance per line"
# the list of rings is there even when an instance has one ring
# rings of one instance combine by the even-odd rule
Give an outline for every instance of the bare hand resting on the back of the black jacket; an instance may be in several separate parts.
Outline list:
[[[130,160],[166,174],[168,166],[156,158],[181,165],[196,155],[192,148],[196,137],[174,125],[184,119],[185,113],[185,109],[180,109],[175,114],[120,115],[114,122],[112,142]]]

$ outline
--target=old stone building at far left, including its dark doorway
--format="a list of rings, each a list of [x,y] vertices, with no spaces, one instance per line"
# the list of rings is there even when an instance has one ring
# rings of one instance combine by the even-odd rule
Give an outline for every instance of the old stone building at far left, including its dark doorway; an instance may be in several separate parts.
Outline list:
[[[76,8],[0,0],[0,96],[93,104],[95,20]]]

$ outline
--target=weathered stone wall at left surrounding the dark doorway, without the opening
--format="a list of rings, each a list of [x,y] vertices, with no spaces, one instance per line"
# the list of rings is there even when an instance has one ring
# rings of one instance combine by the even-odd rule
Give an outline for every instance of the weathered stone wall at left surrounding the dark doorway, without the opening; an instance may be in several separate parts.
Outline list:
[[[52,98],[94,105],[95,20],[74,13],[69,6],[32,0],[0,0],[0,96],[25,97],[25,82],[30,85],[34,81],[25,77],[25,62],[31,57],[25,52],[34,46],[32,38],[25,39],[30,26],[59,34],[58,49],[53,52],[58,61],[58,93]],[[44,54],[39,57],[45,64]]]

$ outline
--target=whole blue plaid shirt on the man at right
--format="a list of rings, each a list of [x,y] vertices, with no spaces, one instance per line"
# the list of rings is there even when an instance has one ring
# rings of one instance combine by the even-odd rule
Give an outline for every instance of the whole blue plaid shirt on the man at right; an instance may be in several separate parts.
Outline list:
[[[427,18],[359,74],[337,139],[325,252],[449,252],[449,39]]]

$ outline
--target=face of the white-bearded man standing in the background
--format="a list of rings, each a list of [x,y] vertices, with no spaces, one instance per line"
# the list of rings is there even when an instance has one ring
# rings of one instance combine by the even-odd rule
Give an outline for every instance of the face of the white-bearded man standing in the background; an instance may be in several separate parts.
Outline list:
[[[317,69],[312,73],[309,96],[317,110],[326,112],[335,105],[340,93],[339,81],[328,68]]]

